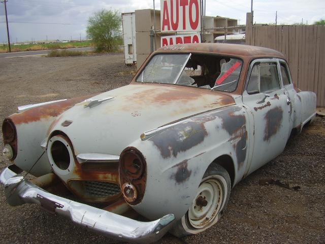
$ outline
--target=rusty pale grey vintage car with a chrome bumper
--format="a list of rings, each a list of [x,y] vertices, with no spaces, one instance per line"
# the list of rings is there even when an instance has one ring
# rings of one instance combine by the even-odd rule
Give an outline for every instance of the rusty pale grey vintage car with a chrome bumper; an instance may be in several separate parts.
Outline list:
[[[2,126],[3,153],[14,164],[0,180],[10,205],[40,204],[121,240],[196,234],[220,219],[237,182],[278,156],[315,109],[316,95],[293,84],[275,50],[166,46],[129,85],[19,107]],[[127,217],[130,209],[151,221]]]

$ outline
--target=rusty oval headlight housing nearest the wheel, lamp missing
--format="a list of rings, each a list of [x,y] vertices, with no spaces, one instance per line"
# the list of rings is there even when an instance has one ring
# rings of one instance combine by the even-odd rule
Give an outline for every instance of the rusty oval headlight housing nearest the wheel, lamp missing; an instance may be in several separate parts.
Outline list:
[[[119,160],[121,192],[130,205],[141,202],[147,179],[146,160],[135,147],[126,147]]]

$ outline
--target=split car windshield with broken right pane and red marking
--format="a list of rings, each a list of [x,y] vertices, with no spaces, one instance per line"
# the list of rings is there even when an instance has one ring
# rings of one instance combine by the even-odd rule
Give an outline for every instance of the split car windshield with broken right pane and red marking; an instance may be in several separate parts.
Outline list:
[[[156,54],[140,72],[136,81],[234,92],[241,67],[240,59],[228,56],[197,53]]]

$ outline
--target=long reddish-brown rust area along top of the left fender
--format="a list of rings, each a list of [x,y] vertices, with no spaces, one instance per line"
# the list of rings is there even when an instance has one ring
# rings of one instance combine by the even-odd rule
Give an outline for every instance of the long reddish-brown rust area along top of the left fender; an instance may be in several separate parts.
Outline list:
[[[57,117],[64,111],[68,110],[69,108],[72,108],[75,104],[80,103],[96,95],[98,94],[72,98],[66,101],[61,101],[52,104],[46,104],[40,107],[28,109],[21,113],[12,114],[9,117],[16,125],[28,124],[31,122],[41,120],[43,118]]]

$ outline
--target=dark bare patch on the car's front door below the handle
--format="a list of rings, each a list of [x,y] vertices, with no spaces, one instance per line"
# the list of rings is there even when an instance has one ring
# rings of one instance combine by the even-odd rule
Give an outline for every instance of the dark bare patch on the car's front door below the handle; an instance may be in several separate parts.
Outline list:
[[[281,127],[283,117],[283,110],[281,107],[275,107],[269,110],[265,114],[265,130],[264,130],[264,141],[269,141],[270,138],[275,135]]]

